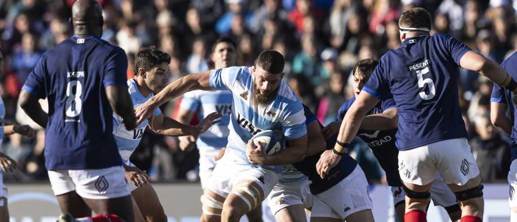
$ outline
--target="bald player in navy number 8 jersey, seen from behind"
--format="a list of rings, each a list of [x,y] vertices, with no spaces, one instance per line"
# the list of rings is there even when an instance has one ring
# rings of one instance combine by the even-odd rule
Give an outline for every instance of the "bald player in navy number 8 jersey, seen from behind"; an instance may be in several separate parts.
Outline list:
[[[77,218],[93,210],[99,218],[132,222],[113,136],[113,112],[127,130],[136,127],[126,53],[100,39],[103,18],[96,1],[75,2],[70,22],[74,36],[43,53],[22,88],[20,106],[46,129],[45,167],[61,211]],[[48,99],[48,114],[38,103],[42,98]]]

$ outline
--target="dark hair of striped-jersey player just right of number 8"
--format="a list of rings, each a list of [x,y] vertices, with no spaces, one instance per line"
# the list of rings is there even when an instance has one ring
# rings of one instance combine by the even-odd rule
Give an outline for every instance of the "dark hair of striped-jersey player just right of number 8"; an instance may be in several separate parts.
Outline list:
[[[134,74],[138,75],[139,69],[144,69],[144,71],[149,71],[160,64],[162,62],[167,62],[167,64],[171,63],[171,56],[168,53],[165,53],[155,47],[144,48],[138,53],[134,58]]]

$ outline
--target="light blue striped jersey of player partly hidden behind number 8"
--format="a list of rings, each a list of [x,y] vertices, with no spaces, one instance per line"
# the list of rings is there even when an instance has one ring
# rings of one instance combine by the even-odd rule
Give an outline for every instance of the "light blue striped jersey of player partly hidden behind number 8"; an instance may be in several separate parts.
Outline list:
[[[153,93],[149,93],[147,97],[144,97],[140,91],[138,90],[138,86],[136,86],[135,80],[131,78],[127,82],[129,95],[131,96],[131,100],[133,101],[133,107],[136,108],[143,103],[147,102],[151,97],[153,97]],[[160,108],[156,108],[155,116],[161,114]],[[122,157],[122,161],[129,165],[129,157],[133,153],[133,151],[140,144],[140,140],[144,135],[145,128],[147,126],[148,120],[143,121],[140,125],[136,126],[136,129],[132,131],[126,130],[126,127],[122,123],[122,117],[113,113],[113,135],[115,137],[115,142],[117,143],[118,152],[120,153],[120,157]]]

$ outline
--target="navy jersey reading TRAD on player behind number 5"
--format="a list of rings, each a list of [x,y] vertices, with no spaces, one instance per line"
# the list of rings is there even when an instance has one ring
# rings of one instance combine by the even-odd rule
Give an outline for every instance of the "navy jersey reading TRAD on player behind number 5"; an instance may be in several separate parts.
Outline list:
[[[341,105],[338,111],[338,121],[342,121],[345,117],[346,112],[352,106],[355,101],[355,97],[347,100]],[[390,108],[395,108],[396,104],[392,98],[383,100],[368,113],[379,114]],[[373,154],[377,158],[377,161],[386,172],[386,180],[390,186],[402,186],[399,175],[398,156],[399,150],[395,145],[395,135],[397,129],[391,130],[359,130],[357,136],[361,138],[366,144],[372,149]]]

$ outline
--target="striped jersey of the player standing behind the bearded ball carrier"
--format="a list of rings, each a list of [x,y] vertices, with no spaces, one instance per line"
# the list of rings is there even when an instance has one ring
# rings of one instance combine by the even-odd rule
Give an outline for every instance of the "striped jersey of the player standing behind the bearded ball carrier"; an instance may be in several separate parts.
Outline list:
[[[219,150],[228,143],[230,114],[232,114],[232,92],[194,90],[183,95],[181,108],[197,113],[203,120],[210,113],[220,113],[221,122],[212,125],[208,131],[197,136],[196,145],[201,153]]]

